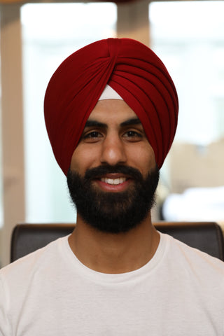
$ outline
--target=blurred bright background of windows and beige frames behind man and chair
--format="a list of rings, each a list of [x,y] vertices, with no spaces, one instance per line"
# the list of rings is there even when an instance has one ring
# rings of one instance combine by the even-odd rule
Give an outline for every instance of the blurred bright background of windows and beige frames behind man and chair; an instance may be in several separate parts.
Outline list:
[[[62,60],[101,38],[150,46],[179,94],[153,220],[224,225],[224,1],[0,3],[1,265],[16,223],[76,222],[45,131],[43,97]]]

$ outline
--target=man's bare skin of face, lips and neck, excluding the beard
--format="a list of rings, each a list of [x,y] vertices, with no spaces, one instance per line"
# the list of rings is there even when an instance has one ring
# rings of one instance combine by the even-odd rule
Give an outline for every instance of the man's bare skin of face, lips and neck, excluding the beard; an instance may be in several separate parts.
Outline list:
[[[119,99],[97,102],[71,158],[71,169],[81,176],[87,169],[106,164],[137,168],[144,177],[155,167],[154,151],[144,128],[130,106]],[[92,183],[102,192],[120,193],[134,183],[124,174],[99,177],[103,181],[96,179]],[[111,184],[107,180],[120,178],[125,181]],[[155,254],[159,241],[150,213],[137,228],[120,234],[99,232],[77,214],[76,229],[69,237],[71,250],[80,262],[110,274],[130,272],[145,265]]]

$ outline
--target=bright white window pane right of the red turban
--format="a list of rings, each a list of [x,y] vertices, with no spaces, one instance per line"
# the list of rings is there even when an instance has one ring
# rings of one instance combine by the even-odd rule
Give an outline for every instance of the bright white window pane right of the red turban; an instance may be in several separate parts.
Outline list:
[[[150,5],[152,47],[179,91],[177,141],[207,145],[224,137],[223,13],[224,1]]]

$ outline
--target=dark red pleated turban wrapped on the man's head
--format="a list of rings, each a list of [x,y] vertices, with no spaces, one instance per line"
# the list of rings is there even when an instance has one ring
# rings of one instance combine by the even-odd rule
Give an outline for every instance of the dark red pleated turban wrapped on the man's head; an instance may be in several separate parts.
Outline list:
[[[108,38],[62,62],[45,92],[45,124],[57,163],[67,174],[87,118],[109,84],[137,114],[160,168],[174,140],[178,98],[165,65],[146,45]]]

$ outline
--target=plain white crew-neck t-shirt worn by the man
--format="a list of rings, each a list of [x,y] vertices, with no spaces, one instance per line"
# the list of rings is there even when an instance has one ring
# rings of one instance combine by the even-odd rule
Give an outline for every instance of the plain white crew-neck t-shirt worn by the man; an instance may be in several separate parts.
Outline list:
[[[160,234],[144,267],[85,267],[68,237],[0,270],[1,336],[224,335],[224,262]]]

